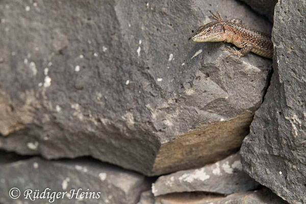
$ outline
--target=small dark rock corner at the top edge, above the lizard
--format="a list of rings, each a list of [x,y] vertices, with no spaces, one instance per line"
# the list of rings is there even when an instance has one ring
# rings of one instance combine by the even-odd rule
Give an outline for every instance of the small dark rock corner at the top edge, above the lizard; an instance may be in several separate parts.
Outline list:
[[[278,0],[241,0],[248,4],[252,9],[257,11],[258,13],[265,15],[269,18],[271,22],[273,22],[274,15],[274,7]]]

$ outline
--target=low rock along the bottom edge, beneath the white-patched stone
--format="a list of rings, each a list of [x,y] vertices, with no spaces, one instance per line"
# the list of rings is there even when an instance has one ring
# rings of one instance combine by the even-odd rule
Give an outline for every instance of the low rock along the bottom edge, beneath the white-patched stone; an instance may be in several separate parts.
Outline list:
[[[207,195],[203,193],[173,193],[154,197],[149,191],[141,194],[138,204],[288,204],[269,189],[247,191],[228,195]]]

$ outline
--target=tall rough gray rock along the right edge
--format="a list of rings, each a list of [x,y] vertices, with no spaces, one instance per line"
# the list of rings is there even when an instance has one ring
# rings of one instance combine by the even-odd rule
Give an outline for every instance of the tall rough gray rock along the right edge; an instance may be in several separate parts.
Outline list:
[[[280,1],[274,73],[242,148],[244,170],[290,203],[306,203],[306,5]]]

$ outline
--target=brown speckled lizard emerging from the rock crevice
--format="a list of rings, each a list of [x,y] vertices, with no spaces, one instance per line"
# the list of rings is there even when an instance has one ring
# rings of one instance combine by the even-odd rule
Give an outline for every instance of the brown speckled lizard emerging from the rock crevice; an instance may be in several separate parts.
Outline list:
[[[255,53],[262,57],[272,59],[273,44],[271,36],[263,32],[251,29],[242,24],[242,20],[234,18],[232,20],[224,20],[220,13],[215,14],[210,11],[210,18],[216,20],[198,28],[197,32],[192,36],[195,42],[229,42],[241,48],[226,46],[225,49],[232,54],[230,56],[238,56],[238,59],[245,56],[249,52]]]

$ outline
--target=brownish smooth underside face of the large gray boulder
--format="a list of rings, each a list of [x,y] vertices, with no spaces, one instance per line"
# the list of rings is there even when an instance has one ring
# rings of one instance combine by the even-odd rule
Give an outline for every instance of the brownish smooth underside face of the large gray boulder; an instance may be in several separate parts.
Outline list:
[[[252,118],[252,112],[247,112],[227,121],[204,124],[163,144],[152,172],[168,173],[223,159],[240,147]]]

